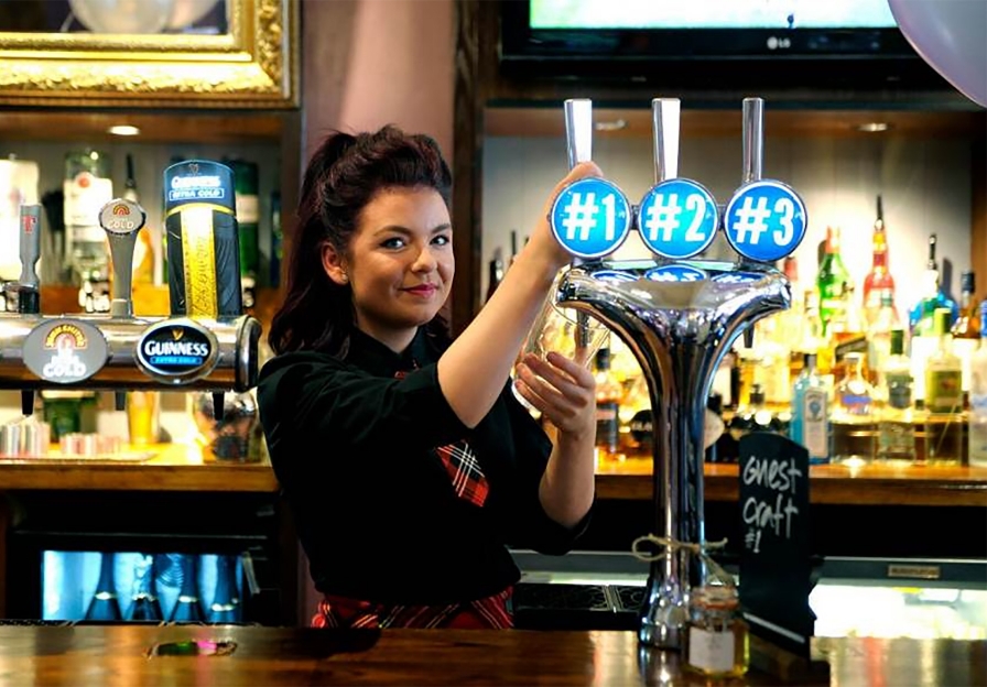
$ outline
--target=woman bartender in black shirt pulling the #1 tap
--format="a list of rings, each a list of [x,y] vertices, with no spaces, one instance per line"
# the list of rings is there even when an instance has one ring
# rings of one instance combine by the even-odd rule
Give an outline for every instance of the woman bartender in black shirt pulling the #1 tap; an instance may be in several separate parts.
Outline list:
[[[258,397],[315,587],[315,626],[509,628],[508,545],[564,554],[594,501],[595,384],[527,356],[570,255],[546,217],[469,326],[440,314],[455,260],[436,143],[394,127],[329,135],[302,186],[284,305]],[[467,228],[468,230],[468,228]],[[468,240],[468,236],[460,240]],[[578,353],[577,353],[578,355]],[[554,445],[511,385],[557,428]]]

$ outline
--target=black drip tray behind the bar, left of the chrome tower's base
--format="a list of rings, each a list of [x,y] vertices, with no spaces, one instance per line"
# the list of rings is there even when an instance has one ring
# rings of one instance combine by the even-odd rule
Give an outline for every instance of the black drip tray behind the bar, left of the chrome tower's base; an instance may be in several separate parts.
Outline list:
[[[634,630],[644,587],[519,582],[514,625],[538,630]]]

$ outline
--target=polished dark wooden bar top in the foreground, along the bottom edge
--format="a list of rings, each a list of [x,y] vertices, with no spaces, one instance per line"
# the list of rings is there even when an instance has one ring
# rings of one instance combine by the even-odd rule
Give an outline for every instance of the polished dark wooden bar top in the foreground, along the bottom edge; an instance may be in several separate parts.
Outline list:
[[[195,644],[220,654],[189,655]],[[182,643],[174,645],[173,643]],[[156,644],[171,648],[154,655]],[[184,655],[182,655],[184,653]],[[149,655],[151,654],[151,655]],[[178,654],[178,655],[174,655]],[[983,685],[987,643],[815,639],[828,679],[800,684]],[[631,632],[0,626],[4,685],[704,685],[679,654]],[[751,672],[729,685],[778,685]]]

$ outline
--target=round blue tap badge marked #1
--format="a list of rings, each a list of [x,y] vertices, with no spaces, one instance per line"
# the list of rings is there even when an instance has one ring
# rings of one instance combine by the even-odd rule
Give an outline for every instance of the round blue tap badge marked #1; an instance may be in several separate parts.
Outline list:
[[[612,253],[630,233],[632,219],[623,192],[601,178],[582,178],[563,188],[549,215],[555,240],[577,258]]]

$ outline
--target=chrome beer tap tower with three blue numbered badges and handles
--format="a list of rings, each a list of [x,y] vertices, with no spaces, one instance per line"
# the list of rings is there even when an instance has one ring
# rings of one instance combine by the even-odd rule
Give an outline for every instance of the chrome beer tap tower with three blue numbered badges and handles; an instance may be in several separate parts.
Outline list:
[[[571,164],[589,159],[589,107],[585,100],[566,103]],[[571,117],[571,108],[584,115]],[[723,222],[713,196],[677,177],[679,100],[655,99],[652,113],[657,183],[639,206],[630,206],[619,188],[603,179],[581,179],[560,194],[550,221],[575,260],[550,301],[589,315],[617,334],[648,382],[654,447],[652,526],[669,545],[649,557],[638,637],[642,646],[681,648],[690,589],[705,584],[706,566],[691,565],[688,553],[674,544],[705,545],[704,421],[713,375],[738,336],[790,306],[791,285],[772,263],[798,247],[806,217],[793,190],[761,179],[760,99],[744,102],[745,172]],[[574,123],[584,129],[576,130]],[[601,230],[587,219],[590,204],[598,207]],[[633,225],[654,258],[606,260]],[[719,230],[737,260],[702,259]]]

